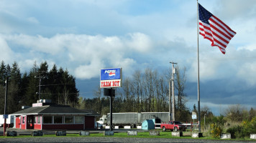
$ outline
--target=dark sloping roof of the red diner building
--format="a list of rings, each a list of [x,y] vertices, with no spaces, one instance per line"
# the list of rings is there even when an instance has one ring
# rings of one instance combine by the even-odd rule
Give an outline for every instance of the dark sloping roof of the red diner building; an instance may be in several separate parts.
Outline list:
[[[76,109],[65,105],[45,105],[40,107],[29,107],[22,109],[19,112],[14,112],[13,115],[23,114],[76,114],[76,115],[91,115],[91,112],[86,112],[81,109]]]

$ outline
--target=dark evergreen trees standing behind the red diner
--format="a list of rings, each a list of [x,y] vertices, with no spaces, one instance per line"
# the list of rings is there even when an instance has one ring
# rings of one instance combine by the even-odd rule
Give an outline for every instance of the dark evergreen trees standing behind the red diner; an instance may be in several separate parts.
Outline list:
[[[39,99],[51,99],[56,104],[75,107],[78,104],[79,91],[76,89],[76,78],[68,73],[68,69],[59,69],[54,64],[48,69],[47,61],[40,66],[33,64],[29,73],[23,74],[16,61],[10,66],[1,61],[0,65],[0,114],[4,114],[4,97],[6,79],[8,78],[7,113],[12,114],[22,106],[32,106]]]

